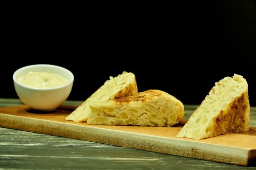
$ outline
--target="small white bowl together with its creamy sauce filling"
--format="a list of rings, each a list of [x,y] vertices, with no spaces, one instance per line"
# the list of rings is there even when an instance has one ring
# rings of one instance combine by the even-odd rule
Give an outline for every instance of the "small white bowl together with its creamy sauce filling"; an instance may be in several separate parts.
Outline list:
[[[52,111],[68,98],[74,75],[66,68],[38,64],[15,71],[13,81],[24,104],[32,109]]]

